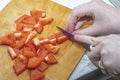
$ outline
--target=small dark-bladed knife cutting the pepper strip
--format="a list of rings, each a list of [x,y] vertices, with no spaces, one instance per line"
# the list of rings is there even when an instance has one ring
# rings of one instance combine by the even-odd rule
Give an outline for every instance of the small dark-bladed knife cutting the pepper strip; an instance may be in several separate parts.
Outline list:
[[[68,31],[62,29],[62,28],[59,27],[59,26],[56,26],[56,27],[57,27],[61,32],[63,32],[65,35],[67,35],[67,36],[70,38],[71,41],[74,41],[74,42],[78,43],[78,44],[81,45],[83,48],[85,48],[87,51],[90,51],[90,46],[91,46],[90,44],[86,44],[86,43],[82,43],[82,42],[76,41],[76,40],[74,39],[74,35],[73,35],[73,34],[69,33]]]

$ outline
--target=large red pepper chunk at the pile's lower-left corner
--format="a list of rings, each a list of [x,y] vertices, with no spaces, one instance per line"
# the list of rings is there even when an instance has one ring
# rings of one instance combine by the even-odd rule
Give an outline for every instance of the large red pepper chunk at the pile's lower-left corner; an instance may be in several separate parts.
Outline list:
[[[16,75],[20,75],[22,72],[26,70],[26,68],[27,68],[27,64],[24,64],[19,57],[15,59],[15,62],[13,64],[13,69]]]

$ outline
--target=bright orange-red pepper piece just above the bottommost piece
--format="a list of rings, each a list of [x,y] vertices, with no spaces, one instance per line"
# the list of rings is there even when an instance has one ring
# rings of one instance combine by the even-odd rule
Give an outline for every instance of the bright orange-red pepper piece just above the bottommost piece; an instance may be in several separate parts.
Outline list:
[[[29,58],[28,61],[28,68],[36,68],[37,66],[40,65],[40,63],[42,62],[42,59],[40,57],[31,57]]]

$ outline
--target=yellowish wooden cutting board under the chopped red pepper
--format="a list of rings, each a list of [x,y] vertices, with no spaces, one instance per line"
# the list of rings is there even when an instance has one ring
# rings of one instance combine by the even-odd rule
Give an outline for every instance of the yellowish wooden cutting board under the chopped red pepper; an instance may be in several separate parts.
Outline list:
[[[29,14],[31,10],[45,10],[47,16],[53,17],[54,21],[45,26],[42,34],[38,37],[48,37],[59,32],[56,26],[65,27],[66,20],[71,12],[70,9],[61,6],[51,0],[11,0],[0,12],[0,36],[4,36],[15,30],[14,21],[23,14]],[[85,49],[70,40],[58,45],[61,49],[56,55],[58,64],[50,65],[45,71],[43,80],[67,80],[85,53]],[[7,53],[7,46],[0,46],[0,80],[29,80],[29,71],[16,76],[12,65],[13,62]]]

